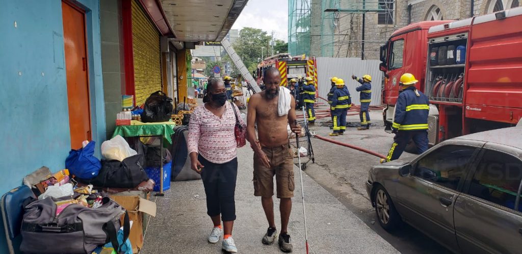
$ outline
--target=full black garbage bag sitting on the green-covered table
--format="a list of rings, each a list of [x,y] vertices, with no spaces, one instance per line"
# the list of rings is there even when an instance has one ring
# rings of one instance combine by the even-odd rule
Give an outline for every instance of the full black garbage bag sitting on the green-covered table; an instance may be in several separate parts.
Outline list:
[[[172,98],[165,95],[162,91],[156,91],[145,100],[143,113],[141,113],[141,122],[167,122],[172,116],[172,109]]]

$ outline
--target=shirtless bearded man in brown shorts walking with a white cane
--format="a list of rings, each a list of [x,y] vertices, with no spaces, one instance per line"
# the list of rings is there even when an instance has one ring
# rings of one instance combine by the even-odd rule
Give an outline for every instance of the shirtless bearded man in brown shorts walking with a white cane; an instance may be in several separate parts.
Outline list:
[[[279,248],[292,251],[288,221],[292,209],[294,184],[293,154],[288,144],[287,124],[294,133],[301,133],[301,126],[295,125],[295,100],[291,97],[290,111],[286,116],[277,113],[279,84],[281,76],[277,68],[268,68],[264,74],[265,90],[253,95],[248,102],[247,138],[254,149],[254,195],[261,197],[263,210],[268,220],[268,230],[263,244],[271,245],[277,237],[274,222],[274,175],[276,176],[277,198],[281,200],[281,234]],[[255,125],[257,124],[256,136]]]

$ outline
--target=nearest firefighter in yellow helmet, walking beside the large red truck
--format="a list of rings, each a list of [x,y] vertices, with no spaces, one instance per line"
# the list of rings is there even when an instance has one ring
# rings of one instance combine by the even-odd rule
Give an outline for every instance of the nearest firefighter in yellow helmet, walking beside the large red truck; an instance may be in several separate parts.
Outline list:
[[[419,154],[428,150],[428,113],[430,111],[428,97],[415,88],[419,80],[410,73],[400,77],[401,93],[397,98],[392,133],[394,143],[386,159],[381,163],[400,157],[408,142],[413,139]]]

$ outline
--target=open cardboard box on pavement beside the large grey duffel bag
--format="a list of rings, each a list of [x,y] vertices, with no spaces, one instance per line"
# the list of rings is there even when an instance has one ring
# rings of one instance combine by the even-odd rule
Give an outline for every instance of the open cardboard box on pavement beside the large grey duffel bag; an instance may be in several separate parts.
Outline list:
[[[143,234],[145,232],[144,213],[156,217],[156,203],[140,198],[137,195],[110,195],[109,197],[123,206],[129,214],[129,220],[133,221],[129,240],[131,240],[133,253],[138,253],[143,248]]]

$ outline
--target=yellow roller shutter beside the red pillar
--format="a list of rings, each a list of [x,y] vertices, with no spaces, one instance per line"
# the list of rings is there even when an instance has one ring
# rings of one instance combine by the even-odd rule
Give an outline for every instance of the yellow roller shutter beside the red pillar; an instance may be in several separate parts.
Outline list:
[[[136,0],[132,1],[134,89],[136,105],[161,90],[160,34]]]

